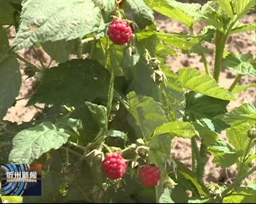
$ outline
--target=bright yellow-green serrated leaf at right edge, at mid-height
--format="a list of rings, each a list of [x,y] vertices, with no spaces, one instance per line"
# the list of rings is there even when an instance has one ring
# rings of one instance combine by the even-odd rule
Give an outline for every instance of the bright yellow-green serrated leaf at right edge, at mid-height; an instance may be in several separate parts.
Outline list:
[[[231,126],[236,126],[244,123],[254,124],[256,120],[256,108],[254,104],[242,103],[241,106],[234,108],[231,112],[225,113],[218,117],[225,123]]]

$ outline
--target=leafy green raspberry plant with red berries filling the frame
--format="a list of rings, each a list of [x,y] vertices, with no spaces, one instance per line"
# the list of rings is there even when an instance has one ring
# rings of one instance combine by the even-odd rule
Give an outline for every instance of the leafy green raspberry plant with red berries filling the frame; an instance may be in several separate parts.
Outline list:
[[[256,75],[256,60],[225,50],[228,36],[255,30],[255,24],[240,22],[254,8],[255,0],[203,6],[175,0],[0,0],[1,163],[40,163],[43,169],[42,196],[19,201],[255,203],[255,181],[242,181],[256,170],[256,108],[226,107],[237,93],[255,87],[237,83]],[[153,11],[191,33],[164,33]],[[199,21],[208,25],[197,34],[193,26]],[[16,29],[11,45],[10,27]],[[203,42],[213,41],[211,75],[205,57],[211,50]],[[51,56],[49,64],[37,54],[41,66],[35,66],[16,52],[36,47]],[[202,56],[205,73],[168,68],[165,58],[177,55],[174,47],[184,57]],[[77,59],[70,60],[71,54]],[[20,125],[3,119],[19,100],[18,60],[27,77],[36,78],[26,106],[44,104]],[[51,66],[53,61],[58,65]],[[218,84],[222,65],[238,73],[229,89]],[[229,144],[218,136],[223,130]],[[191,140],[192,169],[171,158],[175,136]],[[237,165],[233,183],[204,184],[207,153],[222,168]]]

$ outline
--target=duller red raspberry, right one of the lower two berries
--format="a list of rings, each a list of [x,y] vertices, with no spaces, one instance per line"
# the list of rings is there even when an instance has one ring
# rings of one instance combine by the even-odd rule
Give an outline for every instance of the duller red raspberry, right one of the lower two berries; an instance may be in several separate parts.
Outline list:
[[[147,186],[156,186],[161,179],[161,172],[157,166],[147,165],[139,170],[141,182]]]

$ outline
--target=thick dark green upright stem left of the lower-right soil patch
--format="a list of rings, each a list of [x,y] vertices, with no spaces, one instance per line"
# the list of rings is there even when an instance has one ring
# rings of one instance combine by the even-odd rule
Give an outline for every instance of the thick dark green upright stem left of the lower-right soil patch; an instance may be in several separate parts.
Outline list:
[[[208,151],[208,146],[204,144],[204,140],[202,139],[201,141],[201,146],[200,146],[200,160],[197,161],[197,179],[198,182],[203,184],[203,177],[204,177],[204,168],[206,165],[206,159],[207,159],[207,151]]]

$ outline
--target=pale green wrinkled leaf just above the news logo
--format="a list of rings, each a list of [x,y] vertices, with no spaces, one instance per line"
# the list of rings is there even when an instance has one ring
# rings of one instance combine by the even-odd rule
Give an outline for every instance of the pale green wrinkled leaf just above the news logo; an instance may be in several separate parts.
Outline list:
[[[12,140],[10,163],[30,164],[50,149],[59,149],[67,142],[69,135],[60,132],[50,122],[22,130]]]

